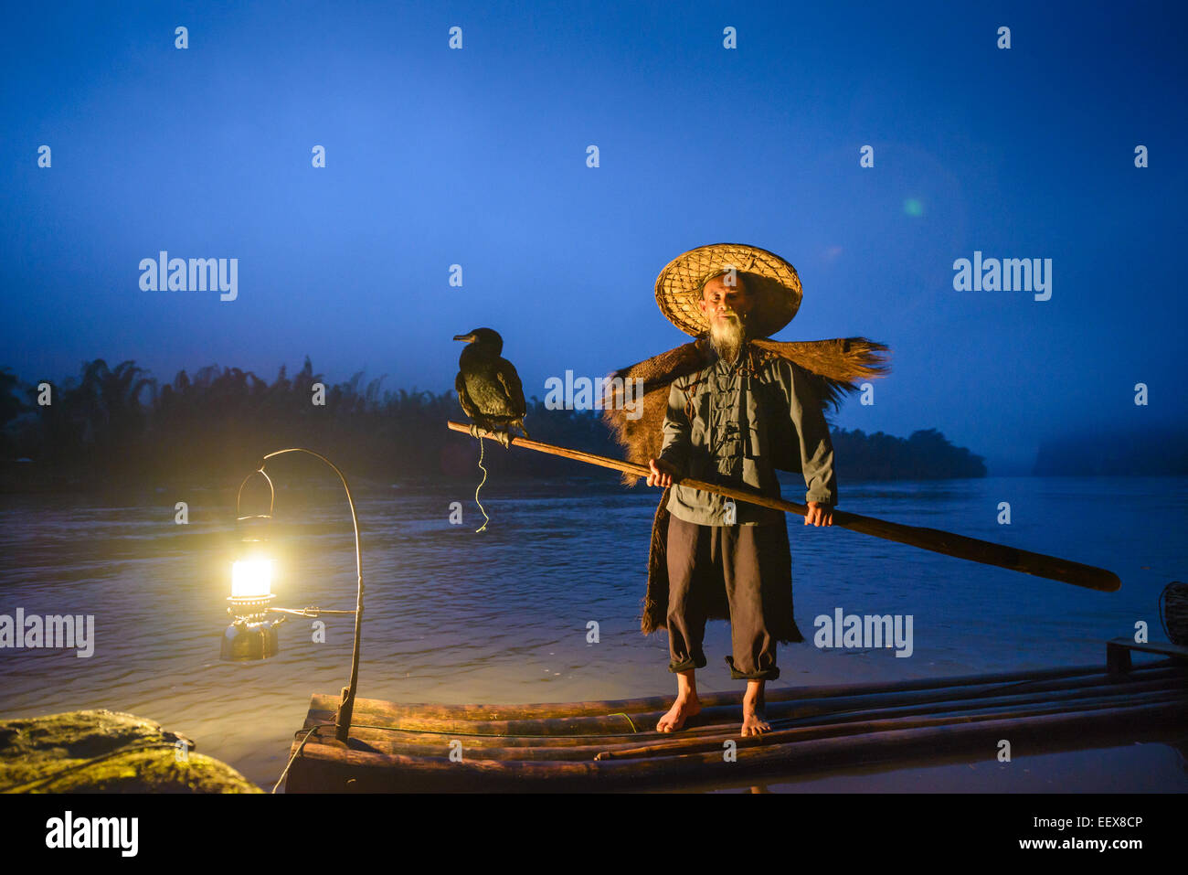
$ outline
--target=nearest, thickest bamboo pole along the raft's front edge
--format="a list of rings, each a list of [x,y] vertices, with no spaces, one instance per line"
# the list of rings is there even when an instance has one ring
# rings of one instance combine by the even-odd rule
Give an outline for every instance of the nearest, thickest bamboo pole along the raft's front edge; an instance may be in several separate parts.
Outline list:
[[[733,762],[726,761],[721,750],[588,762],[500,762],[467,760],[463,754],[461,762],[454,762],[446,756],[413,757],[317,744],[307,745],[293,762],[285,788],[293,793],[556,792],[570,788],[624,791],[691,782],[737,786],[760,775],[772,780],[797,773],[917,756],[935,761],[939,756],[977,753],[980,760],[993,762],[1001,738],[1011,739],[1015,756],[1088,747],[1101,741],[1117,742],[1119,738],[1140,741],[1162,737],[1168,728],[1182,728],[1186,718],[1188,701],[1155,703],[739,748]]]

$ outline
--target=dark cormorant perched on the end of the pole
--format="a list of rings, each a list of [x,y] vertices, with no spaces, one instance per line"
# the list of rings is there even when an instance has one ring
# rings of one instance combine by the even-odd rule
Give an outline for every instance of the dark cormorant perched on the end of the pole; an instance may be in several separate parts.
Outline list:
[[[494,432],[505,447],[511,446],[511,428],[516,426],[527,438],[524,428],[524,385],[516,367],[500,358],[504,339],[493,328],[475,328],[469,334],[455,334],[454,340],[465,340],[467,347],[457,359],[457,378],[454,389],[462,410],[470,417],[470,436],[478,438],[479,429]]]

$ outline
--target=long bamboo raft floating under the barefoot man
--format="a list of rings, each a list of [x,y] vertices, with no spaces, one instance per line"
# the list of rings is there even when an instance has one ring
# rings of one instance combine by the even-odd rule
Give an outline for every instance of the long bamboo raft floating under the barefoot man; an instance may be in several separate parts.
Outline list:
[[[1132,650],[1165,659],[1135,666]],[[704,694],[702,712],[682,731],[656,732],[671,701],[670,695],[538,705],[356,699],[343,744],[334,737],[339,697],[315,694],[293,737],[285,792],[741,786],[921,757],[992,762],[1003,738],[1012,756],[1177,732],[1182,739],[1188,648],[1116,638],[1106,666],[769,688],[772,731],[750,738],[738,735],[740,692]]]

